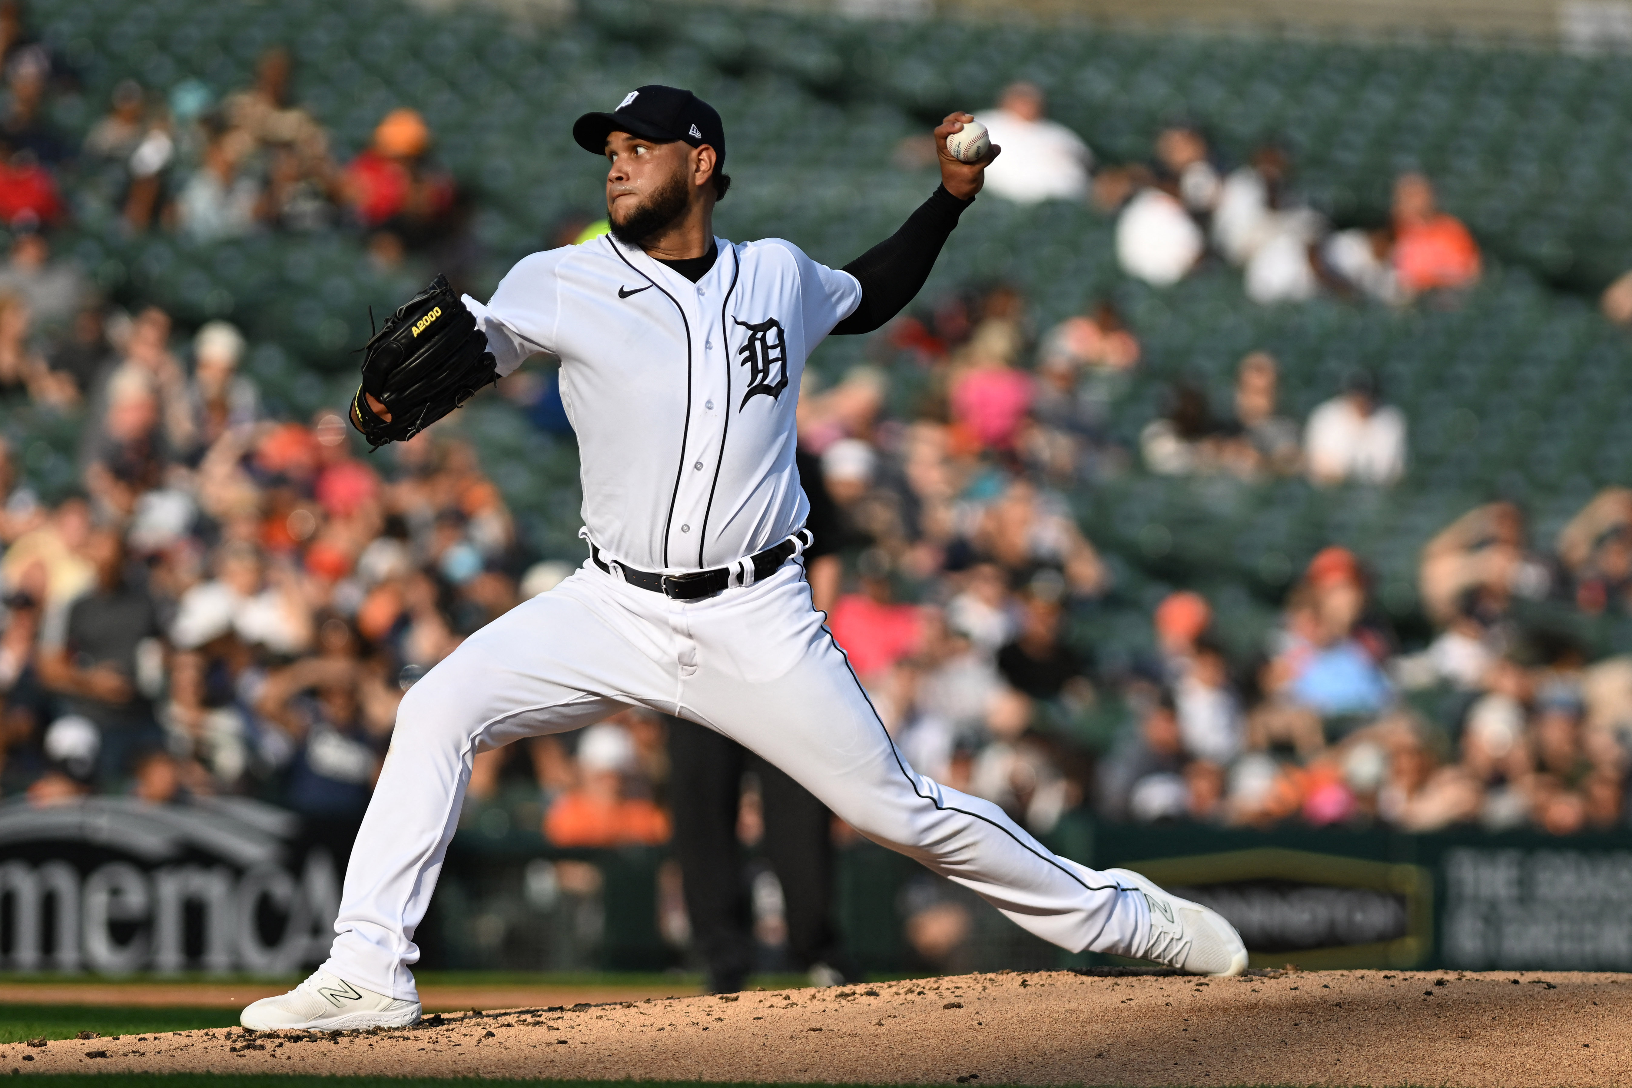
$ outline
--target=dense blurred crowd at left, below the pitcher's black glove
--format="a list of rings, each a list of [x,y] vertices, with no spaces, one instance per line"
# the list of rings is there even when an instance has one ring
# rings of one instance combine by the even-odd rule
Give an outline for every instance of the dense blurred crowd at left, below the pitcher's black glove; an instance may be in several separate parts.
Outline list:
[[[452,439],[264,418],[230,325],[108,326],[80,489],[0,447],[0,793],[361,816],[401,690],[519,599],[498,489]]]

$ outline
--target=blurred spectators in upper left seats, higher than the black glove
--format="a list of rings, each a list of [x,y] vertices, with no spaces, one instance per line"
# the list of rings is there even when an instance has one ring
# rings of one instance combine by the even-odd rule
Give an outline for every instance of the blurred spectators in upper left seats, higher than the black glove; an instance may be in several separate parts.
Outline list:
[[[437,161],[419,113],[387,113],[349,160],[290,96],[292,64],[268,51],[250,86],[217,93],[196,78],[168,91],[122,80],[83,139],[52,124],[54,95],[75,72],[28,33],[18,0],[0,5],[0,220],[52,227],[72,217],[194,241],[255,232],[361,232],[370,256],[408,250],[455,259],[463,196]],[[44,315],[36,315],[44,318]]]

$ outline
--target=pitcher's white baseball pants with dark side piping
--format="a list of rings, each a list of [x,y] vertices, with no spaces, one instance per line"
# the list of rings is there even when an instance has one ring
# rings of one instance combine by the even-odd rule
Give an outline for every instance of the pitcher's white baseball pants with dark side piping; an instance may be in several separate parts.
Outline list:
[[[689,718],[780,767],[876,843],[1071,951],[1134,954],[1144,896],[1054,856],[1002,809],[907,767],[811,607],[798,563],[681,602],[586,563],[472,635],[410,688],[346,866],[325,967],[418,1000],[410,966],[470,763],[627,705]]]

